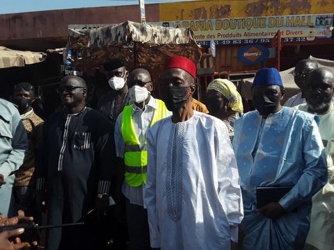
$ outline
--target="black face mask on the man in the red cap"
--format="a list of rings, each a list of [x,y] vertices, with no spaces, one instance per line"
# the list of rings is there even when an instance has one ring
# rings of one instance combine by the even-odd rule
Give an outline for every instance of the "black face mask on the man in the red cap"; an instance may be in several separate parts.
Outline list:
[[[173,86],[162,87],[161,99],[166,104],[169,111],[177,111],[183,108],[184,103],[189,97],[186,97],[186,91],[189,87]]]

